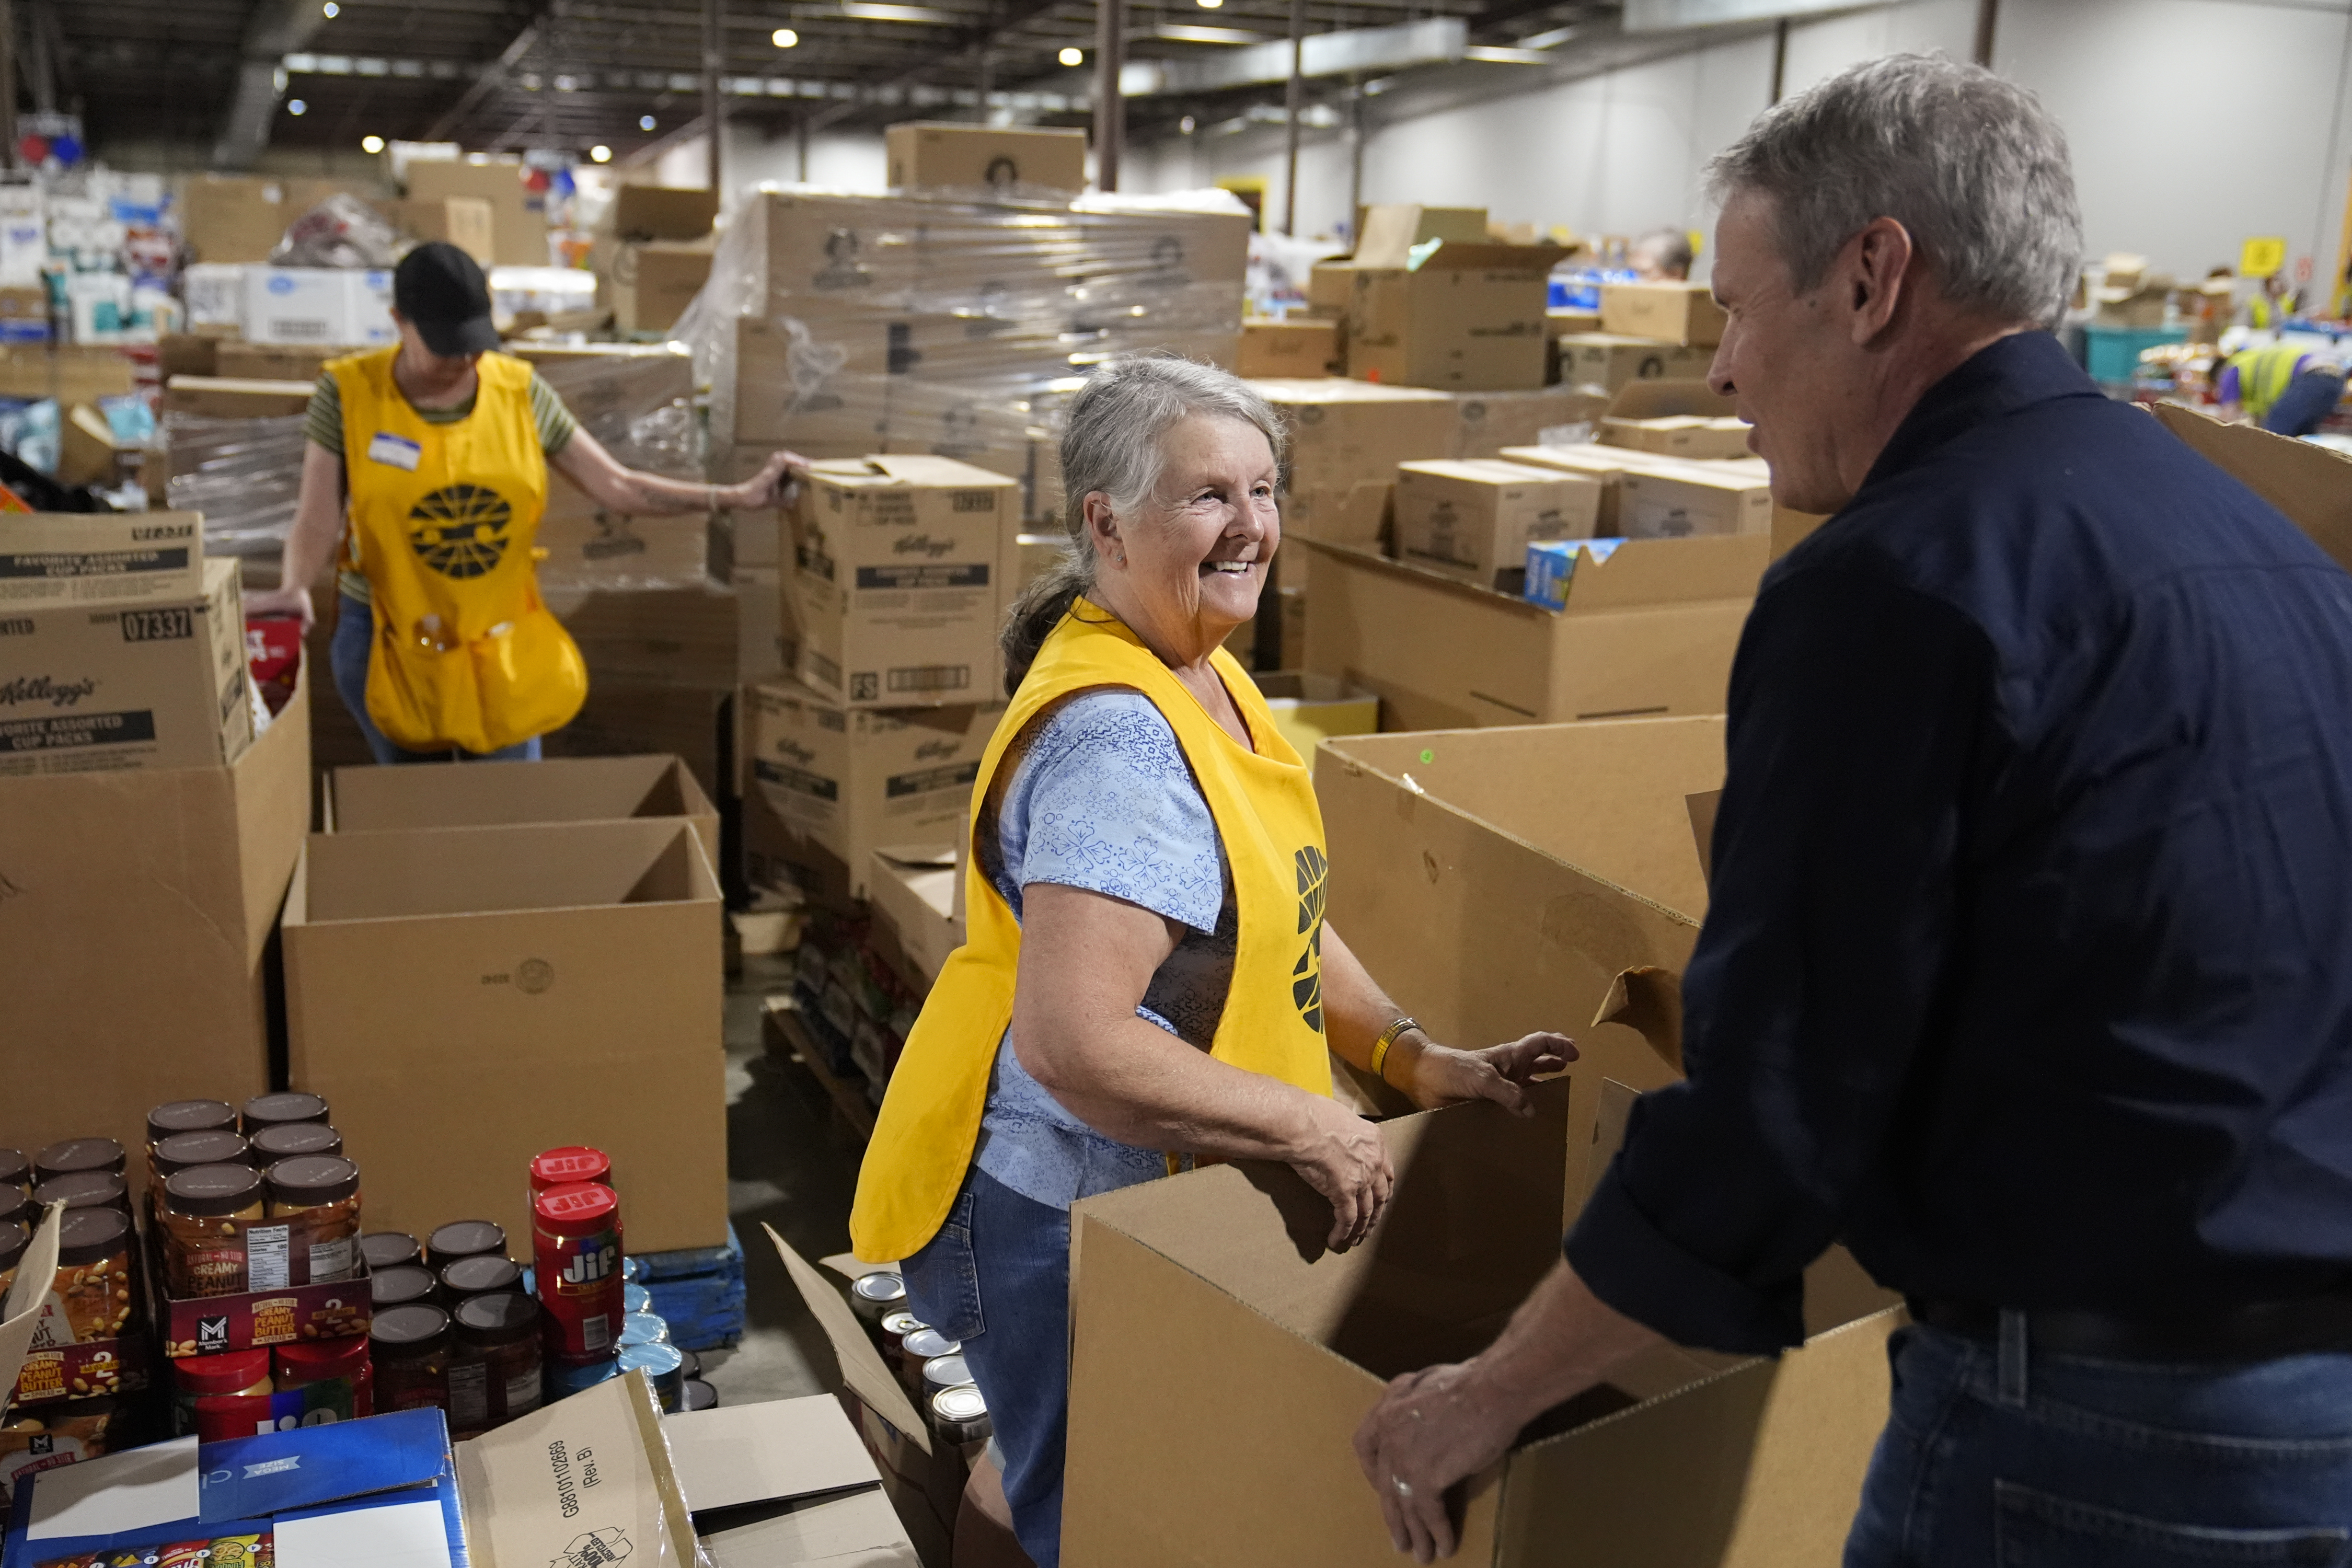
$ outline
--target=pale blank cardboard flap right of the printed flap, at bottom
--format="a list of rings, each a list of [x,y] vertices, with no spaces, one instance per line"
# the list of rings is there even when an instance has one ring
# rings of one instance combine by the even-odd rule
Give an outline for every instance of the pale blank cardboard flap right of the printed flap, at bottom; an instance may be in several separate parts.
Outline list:
[[[882,1481],[833,1394],[684,1410],[661,1434],[696,1514]]]

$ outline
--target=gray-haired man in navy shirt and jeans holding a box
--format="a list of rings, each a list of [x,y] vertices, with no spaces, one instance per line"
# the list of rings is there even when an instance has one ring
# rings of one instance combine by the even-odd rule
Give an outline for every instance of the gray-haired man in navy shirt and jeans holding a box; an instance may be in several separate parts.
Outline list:
[[[1731,675],[1689,1079],[1357,1458],[1399,1549],[1672,1338],[1903,1291],[1849,1568],[2352,1559],[2352,578],[2044,331],[2065,139],[1940,59],[1712,167],[1712,381],[1835,512]]]

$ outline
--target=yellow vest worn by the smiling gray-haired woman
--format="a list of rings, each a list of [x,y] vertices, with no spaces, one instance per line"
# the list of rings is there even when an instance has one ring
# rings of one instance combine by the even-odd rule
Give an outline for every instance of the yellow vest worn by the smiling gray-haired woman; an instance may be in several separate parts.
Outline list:
[[[1218,729],[1127,625],[1080,599],[1044,639],[988,743],[971,790],[967,835],[978,830],[981,802],[988,799],[1007,748],[1047,703],[1089,686],[1127,686],[1148,696],[1176,731],[1209,816],[1216,818],[1242,922],[1232,990],[1209,1056],[1327,1095],[1324,837],[1315,780],[1275,731],[1265,698],[1242,665],[1223,649],[1211,654],[1211,665],[1249,724],[1254,752]],[[981,875],[978,856],[967,856],[964,863],[964,905],[967,940],[948,954],[906,1039],[858,1168],[849,1241],[858,1258],[875,1262],[908,1258],[948,1218],[981,1135],[988,1070],[1014,1016],[1021,922]]]

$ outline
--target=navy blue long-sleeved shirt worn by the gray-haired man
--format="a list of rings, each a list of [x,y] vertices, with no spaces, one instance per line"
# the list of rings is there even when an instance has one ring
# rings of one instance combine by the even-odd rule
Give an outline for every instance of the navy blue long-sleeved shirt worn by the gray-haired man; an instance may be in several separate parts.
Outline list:
[[[1764,576],[1726,741],[1602,1300],[1769,1352],[1832,1241],[2140,1319],[2352,1276],[2352,578],[2300,529],[2004,339]]]

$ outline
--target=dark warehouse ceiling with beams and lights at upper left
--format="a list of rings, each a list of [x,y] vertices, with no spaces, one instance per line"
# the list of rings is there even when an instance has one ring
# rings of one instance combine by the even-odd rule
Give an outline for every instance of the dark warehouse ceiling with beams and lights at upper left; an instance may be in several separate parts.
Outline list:
[[[1202,87],[1174,61],[1282,40],[1291,0],[1129,0],[1129,59],[1171,61],[1138,127],[1279,103],[1279,85]],[[727,0],[727,115],[790,132],[908,118],[1082,125],[1094,0]],[[332,14],[329,14],[332,12]],[[1305,0],[1308,33],[1456,16],[1472,59],[1529,66],[1616,38],[1616,0]],[[701,129],[703,0],[14,0],[21,103],[78,110],[89,143],[263,148],[362,136],[586,150],[621,162]],[[779,28],[795,38],[776,47]],[[1214,73],[1211,73],[1214,75]],[[1185,82],[1195,82],[1185,87]],[[1317,85],[1317,96],[1331,85]],[[1136,92],[1136,87],[1129,87]],[[301,113],[296,113],[296,103]],[[1277,110],[1279,113],[1279,110]],[[1324,108],[1329,122],[1329,108]]]

